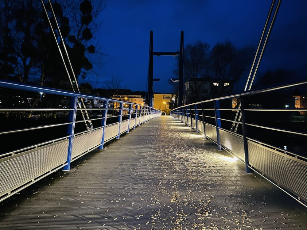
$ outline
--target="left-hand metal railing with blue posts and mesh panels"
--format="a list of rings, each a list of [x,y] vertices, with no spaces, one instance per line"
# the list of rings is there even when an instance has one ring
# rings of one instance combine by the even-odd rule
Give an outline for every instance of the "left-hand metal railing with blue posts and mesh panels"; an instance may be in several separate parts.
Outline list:
[[[69,172],[70,164],[74,160],[93,149],[102,149],[103,144],[106,142],[115,138],[119,139],[121,134],[129,132],[130,129],[135,129],[136,126],[140,126],[146,121],[161,115],[161,111],[146,105],[42,86],[0,80],[0,88],[2,96],[5,94],[3,89],[13,89],[16,90],[11,91],[14,92],[13,95],[18,95],[18,92],[23,95],[36,92],[34,93],[36,95],[40,93],[40,95],[46,95],[46,97],[61,97],[61,100],[69,102],[69,107],[67,106],[67,108],[0,107],[0,114],[2,115],[3,113],[25,114],[50,111],[53,113],[66,113],[66,116],[63,116],[66,118],[64,122],[48,124],[49,121],[45,121],[45,124],[35,125],[36,122],[34,121],[30,122],[34,124],[34,126],[32,125],[33,127],[25,128],[16,127],[18,125],[14,125],[14,121],[8,120],[8,122],[12,122],[9,126],[14,128],[6,128],[7,130],[2,128],[0,131],[2,140],[0,201],[59,169]],[[78,98],[99,100],[103,104],[100,108],[79,108],[80,106],[77,106]],[[3,106],[5,103],[3,100],[1,102]],[[112,106],[115,106],[115,108],[112,108],[110,104],[113,104]],[[123,106],[124,104],[126,107]],[[22,105],[18,105],[18,107],[22,107]],[[78,117],[82,118],[80,115],[84,110],[92,112],[93,116],[90,116],[87,120],[78,120]],[[25,120],[19,125],[24,126],[27,121],[30,120]],[[82,123],[86,121],[93,122],[94,128],[82,130],[82,128],[85,129]],[[8,135],[17,135],[17,137]],[[23,146],[20,147],[18,139],[21,140],[21,137],[29,137],[26,140],[34,141],[34,143],[29,144],[30,142],[25,141]],[[35,142],[35,140],[41,141],[36,143],[37,141]],[[9,146],[10,151],[3,152],[3,149],[5,149],[3,147],[5,146]]]

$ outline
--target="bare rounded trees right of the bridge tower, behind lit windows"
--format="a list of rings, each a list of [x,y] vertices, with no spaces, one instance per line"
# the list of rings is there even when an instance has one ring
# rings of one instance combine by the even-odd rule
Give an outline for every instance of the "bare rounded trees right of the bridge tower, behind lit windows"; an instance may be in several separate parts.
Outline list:
[[[254,48],[236,48],[230,41],[217,43],[210,47],[208,43],[197,41],[184,49],[184,78],[186,103],[222,96],[231,92],[233,83],[249,71],[254,56]],[[179,64],[179,60],[177,65]],[[177,74],[177,70],[174,71]],[[215,82],[229,82],[229,85],[216,86]],[[172,83],[177,87],[177,83]],[[204,84],[210,84],[211,90],[203,94]],[[189,92],[188,92],[189,91]]]

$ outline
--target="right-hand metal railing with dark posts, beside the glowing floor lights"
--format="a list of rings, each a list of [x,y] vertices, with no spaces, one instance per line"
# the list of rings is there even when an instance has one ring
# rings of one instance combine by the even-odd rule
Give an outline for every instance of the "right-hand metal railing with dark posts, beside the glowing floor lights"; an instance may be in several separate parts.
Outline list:
[[[263,99],[268,94],[273,95],[306,84],[307,81],[303,81],[210,99],[173,109],[170,115],[197,133],[202,133],[204,139],[212,140],[217,144],[218,150],[224,149],[245,163],[247,173],[258,173],[307,207],[307,153],[304,152],[304,138],[307,136],[306,117],[297,125],[301,131],[292,130],[292,118],[287,122],[280,118],[283,117],[280,115],[286,115],[286,112],[306,114],[307,109],[290,109],[289,105],[276,109],[261,106],[253,108],[251,105],[255,100]],[[270,97],[266,100],[270,100]],[[234,102],[237,106],[232,107],[231,104]],[[239,103],[241,108],[238,106]],[[242,113],[242,121],[235,121],[234,114],[237,111]],[[270,113],[270,116],[264,113]],[[239,124],[238,132],[230,131],[234,122]],[[274,124],[275,127],[272,127]],[[290,128],[285,128],[285,124]],[[302,142],[301,151],[297,146],[287,149],[286,143],[298,144],[295,142]]]

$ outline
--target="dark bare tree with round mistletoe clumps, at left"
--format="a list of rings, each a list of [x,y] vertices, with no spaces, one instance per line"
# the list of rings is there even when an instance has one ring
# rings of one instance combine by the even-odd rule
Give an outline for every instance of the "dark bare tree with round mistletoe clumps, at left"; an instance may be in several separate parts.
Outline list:
[[[51,16],[50,5],[44,2]],[[95,18],[105,8],[105,1],[52,2],[74,73],[78,79],[85,78],[91,74],[95,60],[103,55],[94,35],[99,26]],[[0,8],[0,78],[72,90],[41,1],[3,0]],[[60,41],[54,18],[50,21]],[[63,45],[60,42],[59,45],[64,53]],[[72,75],[69,68],[68,71]],[[10,96],[9,90],[2,89],[8,107]],[[31,107],[39,98],[37,94]]]

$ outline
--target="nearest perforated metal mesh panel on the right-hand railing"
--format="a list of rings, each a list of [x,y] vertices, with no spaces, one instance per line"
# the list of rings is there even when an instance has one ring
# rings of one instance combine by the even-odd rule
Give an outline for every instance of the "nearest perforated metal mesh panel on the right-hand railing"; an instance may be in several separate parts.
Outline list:
[[[248,153],[251,166],[307,201],[307,162],[250,140]]]

